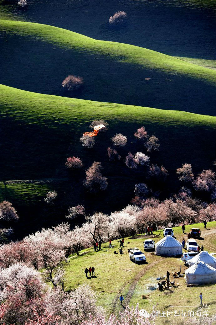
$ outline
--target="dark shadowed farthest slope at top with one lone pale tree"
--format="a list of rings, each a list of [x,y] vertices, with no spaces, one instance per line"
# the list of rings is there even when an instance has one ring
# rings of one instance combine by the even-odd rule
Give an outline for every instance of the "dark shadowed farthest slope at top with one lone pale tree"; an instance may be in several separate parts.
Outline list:
[[[54,25],[92,38],[138,45],[172,56],[216,59],[214,0],[28,2],[28,10],[24,11],[18,10],[16,1],[10,6],[14,19]],[[4,10],[5,14],[7,2],[0,0],[0,3],[0,11]],[[126,23],[120,29],[110,28],[109,17],[118,10],[126,11]]]

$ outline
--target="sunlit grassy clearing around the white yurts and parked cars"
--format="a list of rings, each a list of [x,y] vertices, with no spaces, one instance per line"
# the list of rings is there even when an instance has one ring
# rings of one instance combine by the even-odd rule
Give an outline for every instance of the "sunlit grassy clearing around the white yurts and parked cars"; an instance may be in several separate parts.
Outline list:
[[[185,235],[183,236],[181,227],[174,227],[174,235],[177,240],[182,241],[186,237],[188,231],[192,227],[199,227],[202,230],[203,240],[197,240],[198,244],[204,246],[204,250],[209,252],[216,251],[214,242],[216,232],[216,222],[209,222],[207,229],[203,224],[186,226]],[[162,230],[155,231],[159,234],[159,238],[155,238],[155,242],[162,238]],[[145,236],[144,236],[145,237]],[[108,243],[102,244],[102,250],[93,252],[93,249],[86,249],[81,252],[81,256],[71,255],[70,263],[65,264],[66,269],[66,289],[77,287],[81,283],[88,283],[97,292],[98,304],[102,305],[106,312],[118,312],[121,310],[119,296],[123,294],[125,305],[136,305],[139,303],[140,308],[146,309],[148,312],[152,310],[152,306],[158,303],[156,310],[196,310],[199,305],[200,291],[205,297],[204,304],[208,304],[210,308],[216,308],[214,291],[216,284],[207,286],[198,286],[187,288],[184,278],[177,279],[180,286],[171,288],[169,291],[162,292],[150,291],[147,285],[156,284],[156,277],[166,275],[167,269],[170,274],[172,270],[184,272],[187,267],[175,257],[161,257],[154,253],[146,252],[148,264],[135,264],[130,262],[127,248],[138,247],[143,252],[144,238],[125,239],[125,254],[114,255],[117,251],[118,242],[114,240],[112,244],[114,248],[110,249]],[[127,242],[130,242],[129,244]],[[97,278],[86,279],[84,269],[94,266]],[[118,279],[118,281],[116,281]],[[170,279],[173,279],[170,276]],[[142,299],[142,295],[146,295],[146,299]],[[193,298],[192,298],[193,297]],[[211,310],[209,311],[211,313]],[[172,324],[183,324],[183,318],[170,317],[158,318],[156,324],[166,324],[167,320]]]

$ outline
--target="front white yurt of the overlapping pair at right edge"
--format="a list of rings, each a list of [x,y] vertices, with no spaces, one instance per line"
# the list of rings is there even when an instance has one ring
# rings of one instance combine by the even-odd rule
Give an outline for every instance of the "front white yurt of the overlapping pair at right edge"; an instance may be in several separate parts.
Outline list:
[[[216,269],[204,262],[197,262],[185,271],[186,283],[216,283]]]

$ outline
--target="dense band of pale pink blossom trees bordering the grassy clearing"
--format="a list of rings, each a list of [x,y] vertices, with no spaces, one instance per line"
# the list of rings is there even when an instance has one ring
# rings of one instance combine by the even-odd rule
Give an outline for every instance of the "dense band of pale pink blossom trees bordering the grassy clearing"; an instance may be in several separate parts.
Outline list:
[[[145,188],[145,184],[138,184]],[[143,191],[142,191],[143,192]],[[137,193],[140,195],[140,193]],[[138,316],[138,306],[126,308],[120,318],[109,320],[96,306],[95,293],[89,286],[64,291],[65,270],[62,262],[70,253],[77,256],[81,249],[93,242],[107,242],[122,236],[144,232],[146,226],[154,229],[183,223],[216,220],[216,203],[206,204],[193,199],[187,188],[181,188],[173,198],[160,201],[140,197],[140,204],[110,215],[95,213],[86,216],[80,227],[72,230],[68,223],[42,229],[21,241],[0,246],[0,320],[5,324],[36,325],[35,317],[48,325],[142,325],[153,324],[149,318]],[[11,207],[11,205],[9,205]],[[72,207],[70,212],[84,213],[83,206]],[[39,272],[40,271],[40,272]],[[48,284],[51,285],[48,285]],[[136,316],[136,317],[135,317]],[[129,322],[129,323],[128,323]],[[207,323],[208,324],[208,323]]]

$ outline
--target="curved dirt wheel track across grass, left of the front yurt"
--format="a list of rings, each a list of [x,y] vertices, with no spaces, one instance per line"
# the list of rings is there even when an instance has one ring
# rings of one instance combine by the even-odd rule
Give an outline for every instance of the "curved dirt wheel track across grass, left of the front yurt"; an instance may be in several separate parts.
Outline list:
[[[155,266],[156,264],[158,264],[160,261],[154,261],[153,263],[150,263],[148,266],[144,266],[138,273],[137,275],[135,276],[135,278],[131,279],[130,282],[131,285],[128,289],[128,292],[127,294],[124,296],[125,300],[127,301],[127,305],[129,305],[129,302],[134,294],[134,291],[135,291],[135,288],[136,288],[136,285],[138,283],[138,281],[145,275],[145,273],[152,267],[152,266]],[[113,302],[113,308],[112,308],[112,313],[115,313],[115,309],[116,307],[119,306],[118,304],[118,300],[119,300],[119,297],[121,295],[121,292],[123,291],[123,289],[125,288],[125,285],[123,285],[121,287],[121,289],[118,291],[115,299],[114,299],[114,302]],[[116,313],[115,313],[116,314]]]

